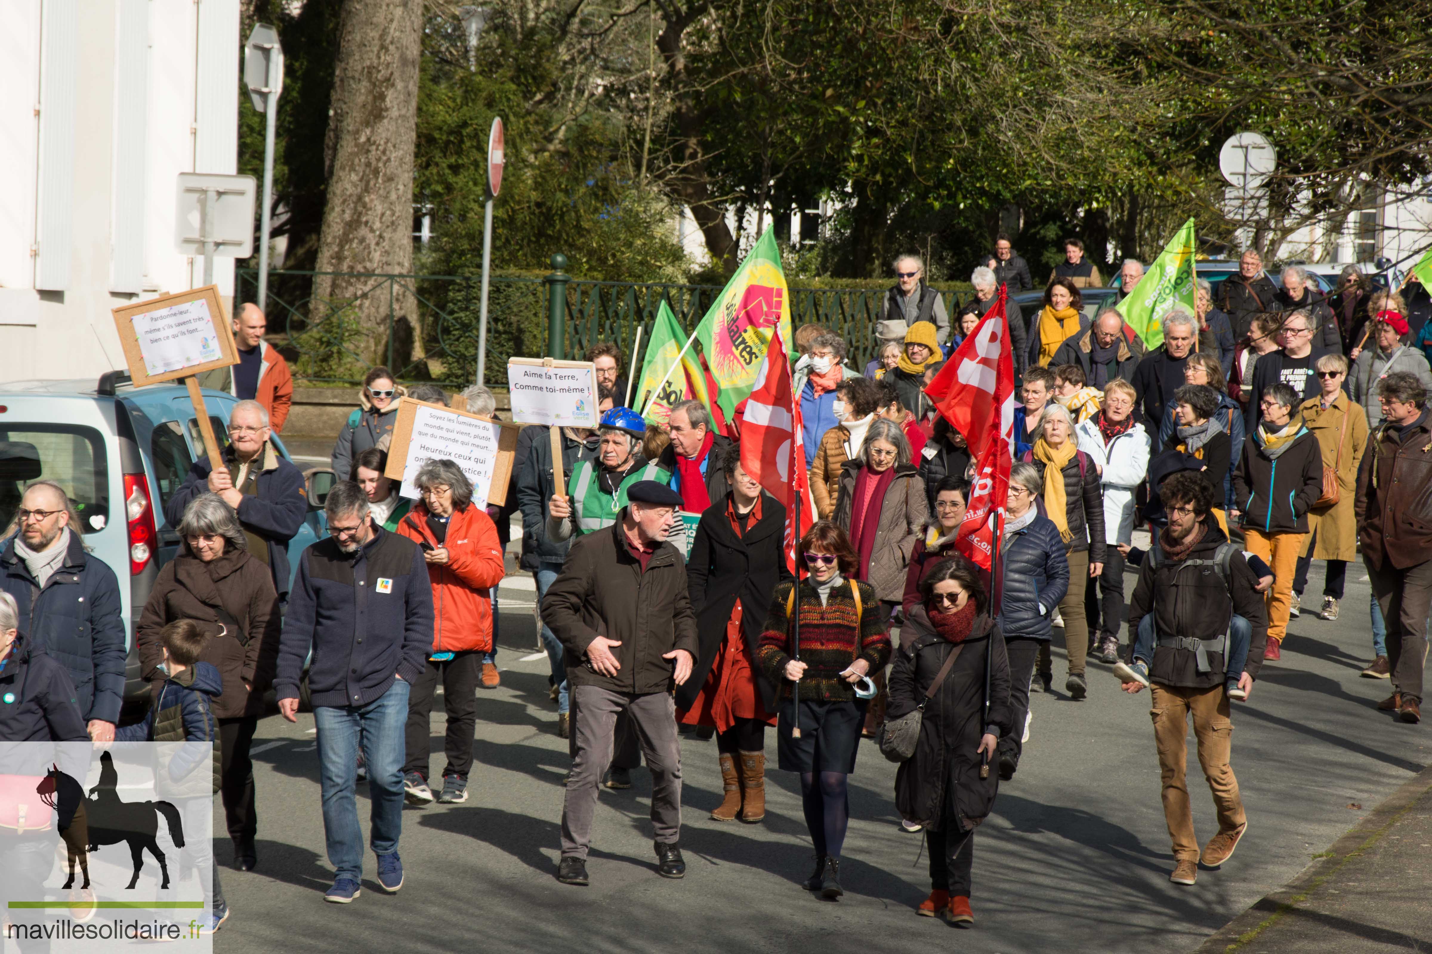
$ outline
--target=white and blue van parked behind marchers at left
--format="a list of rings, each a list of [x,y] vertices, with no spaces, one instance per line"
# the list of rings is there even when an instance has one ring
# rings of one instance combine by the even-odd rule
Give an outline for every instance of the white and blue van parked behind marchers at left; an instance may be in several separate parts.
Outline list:
[[[213,433],[226,442],[229,410],[238,399],[221,390],[203,395]],[[278,435],[274,446],[289,456]],[[179,552],[179,533],[165,519],[165,502],[202,453],[199,421],[183,386],[133,388],[127,372],[109,372],[97,383],[0,385],[0,526],[10,525],[32,481],[54,481],[74,501],[84,545],[120,578],[126,698],[149,692],[139,677],[135,622],[159,568]],[[328,532],[322,493],[332,483],[331,471],[315,468],[306,476],[319,495],[309,492],[308,518],[288,545],[295,572],[304,548]]]

